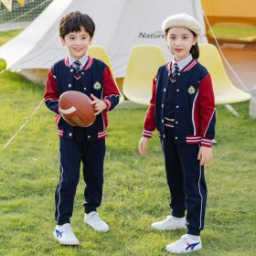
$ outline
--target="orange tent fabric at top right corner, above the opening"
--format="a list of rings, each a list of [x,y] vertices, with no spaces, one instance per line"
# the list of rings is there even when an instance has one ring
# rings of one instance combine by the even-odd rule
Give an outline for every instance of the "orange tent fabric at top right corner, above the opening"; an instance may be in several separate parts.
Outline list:
[[[201,0],[211,25],[219,22],[238,22],[256,26],[255,0]]]

